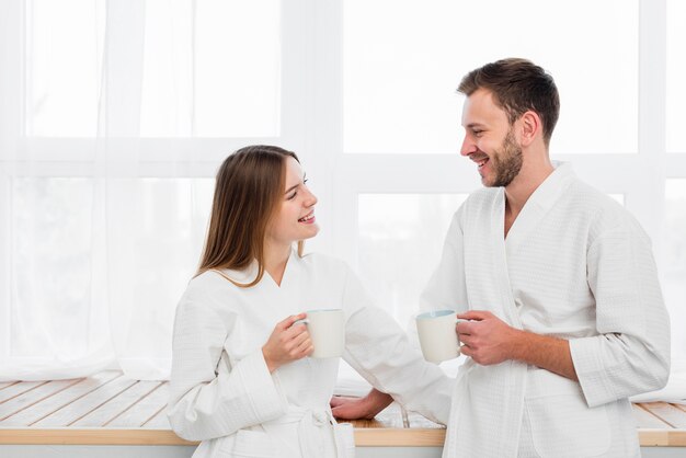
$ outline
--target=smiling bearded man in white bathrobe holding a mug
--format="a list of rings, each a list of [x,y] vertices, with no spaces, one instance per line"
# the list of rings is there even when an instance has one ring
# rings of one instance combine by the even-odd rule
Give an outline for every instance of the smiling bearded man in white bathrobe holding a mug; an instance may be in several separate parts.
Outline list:
[[[670,324],[650,241],[548,148],[552,78],[524,59],[468,73],[461,154],[485,186],[458,209],[421,308],[457,309],[468,356],[444,457],[638,457],[628,397],[662,388]],[[389,398],[335,400],[334,414]]]

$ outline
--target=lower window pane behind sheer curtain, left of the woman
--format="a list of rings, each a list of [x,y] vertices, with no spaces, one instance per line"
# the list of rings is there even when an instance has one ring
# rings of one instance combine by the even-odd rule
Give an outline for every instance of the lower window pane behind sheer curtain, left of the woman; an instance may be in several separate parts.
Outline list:
[[[140,352],[167,348],[213,190],[214,179],[14,179],[12,355],[53,348],[76,357],[119,322],[129,340],[159,336],[159,348]],[[105,301],[119,312],[110,316]],[[141,320],[128,321],[124,310]]]

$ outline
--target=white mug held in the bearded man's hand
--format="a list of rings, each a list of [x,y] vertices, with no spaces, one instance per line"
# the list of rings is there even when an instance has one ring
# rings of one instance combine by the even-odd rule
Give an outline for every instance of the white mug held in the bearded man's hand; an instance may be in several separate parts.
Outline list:
[[[455,310],[433,310],[416,316],[416,332],[424,359],[441,363],[460,355],[460,342],[455,330]]]

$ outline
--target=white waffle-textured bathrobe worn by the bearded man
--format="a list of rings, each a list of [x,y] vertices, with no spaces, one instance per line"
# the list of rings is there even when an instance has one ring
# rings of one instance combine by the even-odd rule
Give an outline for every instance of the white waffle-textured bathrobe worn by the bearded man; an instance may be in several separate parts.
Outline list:
[[[504,188],[458,209],[421,308],[489,310],[567,339],[580,382],[517,362],[468,358],[444,457],[639,456],[627,397],[662,388],[670,324],[650,241],[617,203],[560,164],[504,238]]]

